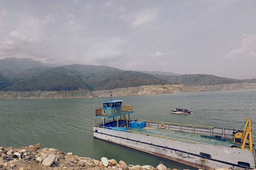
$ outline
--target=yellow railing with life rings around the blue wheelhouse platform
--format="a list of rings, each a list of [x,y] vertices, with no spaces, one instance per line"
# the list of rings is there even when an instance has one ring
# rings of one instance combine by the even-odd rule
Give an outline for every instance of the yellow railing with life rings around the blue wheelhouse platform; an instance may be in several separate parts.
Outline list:
[[[114,108],[114,109],[94,109],[96,116],[113,116],[113,115],[120,115],[127,112],[133,111],[133,106],[127,105],[127,106],[121,106],[120,108]]]

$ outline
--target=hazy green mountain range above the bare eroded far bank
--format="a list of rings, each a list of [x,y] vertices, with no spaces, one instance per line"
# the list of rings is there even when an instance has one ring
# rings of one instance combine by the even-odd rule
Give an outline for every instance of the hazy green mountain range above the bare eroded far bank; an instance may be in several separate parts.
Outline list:
[[[146,85],[202,86],[240,82],[254,83],[256,79],[239,80],[204,74],[180,75],[161,71],[126,71],[107,66],[50,64],[31,58],[11,57],[0,60],[0,91],[98,91]]]

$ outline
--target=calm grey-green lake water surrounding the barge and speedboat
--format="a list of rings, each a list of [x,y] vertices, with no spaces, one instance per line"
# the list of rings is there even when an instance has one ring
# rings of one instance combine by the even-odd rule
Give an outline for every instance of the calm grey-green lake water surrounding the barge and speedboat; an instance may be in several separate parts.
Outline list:
[[[162,161],[170,168],[194,169],[148,153],[93,139],[94,109],[102,107],[101,102],[108,99],[0,100],[0,146],[21,147],[40,143],[42,148],[57,148],[63,152],[73,152],[78,156],[98,160],[108,157],[117,161],[123,160],[127,164],[153,166]],[[256,90],[127,96],[114,99],[133,105],[135,113],[131,118],[136,119],[236,129],[248,117],[256,120]],[[193,114],[171,114],[170,109],[175,108],[188,108]]]

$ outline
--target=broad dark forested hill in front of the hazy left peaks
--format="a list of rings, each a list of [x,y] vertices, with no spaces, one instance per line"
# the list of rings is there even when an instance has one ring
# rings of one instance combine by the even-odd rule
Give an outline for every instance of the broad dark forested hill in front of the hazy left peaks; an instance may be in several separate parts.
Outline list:
[[[29,68],[10,79],[13,84],[2,91],[95,91],[169,83],[145,73],[88,65]]]

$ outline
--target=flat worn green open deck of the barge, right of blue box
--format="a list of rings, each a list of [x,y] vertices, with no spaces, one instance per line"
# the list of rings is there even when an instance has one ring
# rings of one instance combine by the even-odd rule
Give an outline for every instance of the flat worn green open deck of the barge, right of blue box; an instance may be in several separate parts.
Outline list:
[[[152,135],[160,135],[164,137],[182,139],[182,140],[189,140],[194,142],[207,143],[207,144],[218,145],[218,146],[231,147],[232,145],[234,145],[234,143],[231,140],[223,141],[223,140],[202,138],[200,137],[201,134],[189,133],[189,132],[183,132],[183,131],[179,132],[176,130],[167,130],[167,129],[149,128],[149,127],[145,127],[142,129],[128,128],[128,130],[141,132],[141,133],[148,133]]]

